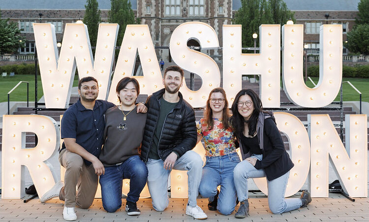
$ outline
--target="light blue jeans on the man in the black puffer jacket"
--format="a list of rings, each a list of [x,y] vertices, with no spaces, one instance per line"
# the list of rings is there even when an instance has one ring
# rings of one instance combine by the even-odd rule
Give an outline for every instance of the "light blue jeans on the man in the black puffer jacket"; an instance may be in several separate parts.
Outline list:
[[[153,207],[156,211],[164,211],[169,204],[168,177],[171,170],[165,170],[164,161],[150,159],[146,163],[149,170],[147,185],[151,195]],[[203,162],[199,154],[192,150],[184,153],[174,164],[174,170],[187,171],[188,175],[188,205],[196,206],[199,185],[202,175]]]

